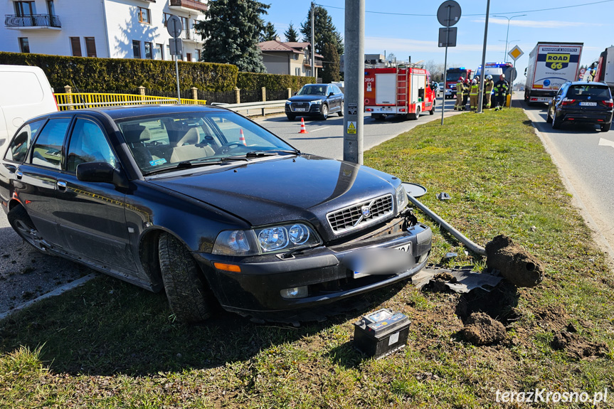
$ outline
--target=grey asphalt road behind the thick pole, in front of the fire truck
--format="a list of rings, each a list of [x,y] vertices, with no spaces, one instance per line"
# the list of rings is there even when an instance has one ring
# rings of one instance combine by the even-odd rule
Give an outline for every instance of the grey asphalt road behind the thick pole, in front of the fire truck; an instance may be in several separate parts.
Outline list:
[[[371,115],[364,116],[364,150],[371,149],[376,145],[396,137],[398,134],[407,132],[418,124],[437,120],[441,121],[441,102],[437,100],[435,114],[423,113],[417,120],[404,120],[388,116],[383,121],[371,119]],[[445,117],[455,115],[458,112],[452,110],[455,100],[445,101]],[[444,119],[445,121],[445,119]],[[299,134],[300,117],[289,121],[285,115],[275,115],[256,119],[256,122],[281,137],[301,152],[317,154],[333,159],[343,159],[343,117],[332,114],[327,120],[305,118],[307,134]]]

